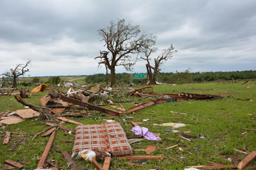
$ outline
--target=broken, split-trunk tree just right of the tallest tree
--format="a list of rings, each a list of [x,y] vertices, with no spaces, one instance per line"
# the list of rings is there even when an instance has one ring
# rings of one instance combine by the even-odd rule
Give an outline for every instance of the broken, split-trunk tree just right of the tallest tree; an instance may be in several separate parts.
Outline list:
[[[141,59],[145,59],[148,63],[148,65],[150,65],[150,59],[149,56],[150,54],[152,54],[153,52],[156,52],[157,48],[146,48],[143,50],[145,57],[141,56]],[[148,67],[148,76],[149,76],[149,81],[150,84],[156,84],[156,74],[157,72],[159,72],[161,70],[161,66],[163,65],[163,63],[165,63],[165,61],[167,61],[168,59],[172,58],[172,54],[174,52],[178,52],[177,50],[174,50],[174,47],[172,47],[172,45],[170,45],[169,48],[163,49],[162,53],[159,54],[159,56],[157,56],[157,58],[154,59],[155,61],[155,67],[154,67],[154,74],[152,75],[152,68]]]

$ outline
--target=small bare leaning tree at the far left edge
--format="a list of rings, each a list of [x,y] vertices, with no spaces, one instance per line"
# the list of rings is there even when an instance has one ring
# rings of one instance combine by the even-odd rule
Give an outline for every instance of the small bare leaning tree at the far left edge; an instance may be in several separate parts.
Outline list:
[[[6,70],[3,74],[0,76],[6,76],[7,78],[12,78],[12,85],[14,87],[17,87],[17,78],[19,76],[24,76],[25,72],[29,72],[29,69],[27,67],[30,65],[31,60],[27,61],[26,64],[18,64],[15,69]]]

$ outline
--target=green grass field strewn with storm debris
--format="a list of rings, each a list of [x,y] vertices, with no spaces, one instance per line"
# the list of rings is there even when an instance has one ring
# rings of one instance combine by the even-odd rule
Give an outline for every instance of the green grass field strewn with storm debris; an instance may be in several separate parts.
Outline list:
[[[82,80],[81,80],[82,81]],[[146,107],[145,109],[136,111],[136,114],[122,114],[120,117],[114,117],[106,115],[102,118],[101,114],[95,114],[93,111],[91,115],[93,118],[81,119],[81,123],[91,124],[91,123],[105,123],[104,119],[112,119],[116,122],[120,122],[124,131],[128,136],[134,136],[130,130],[132,125],[127,125],[130,121],[133,122],[143,122],[141,127],[147,127],[152,133],[160,133],[160,138],[162,140],[148,141],[143,140],[141,142],[132,143],[133,149],[146,149],[148,145],[156,145],[157,149],[150,155],[161,155],[164,156],[164,160],[150,160],[143,167],[137,167],[135,165],[127,165],[125,162],[130,162],[128,160],[119,160],[118,158],[112,157],[110,169],[184,169],[187,166],[192,165],[212,165],[207,162],[216,162],[218,164],[235,164],[237,165],[240,160],[242,160],[246,154],[235,151],[234,149],[250,153],[251,151],[256,151],[256,87],[248,86],[255,85],[255,81],[249,81],[244,84],[240,83],[192,83],[184,85],[164,84],[164,85],[154,85],[154,92],[156,94],[163,93],[177,93],[177,92],[188,92],[188,93],[198,93],[202,94],[223,94],[223,99],[216,99],[211,101],[178,101],[176,103],[159,103]],[[249,88],[248,88],[249,87]],[[143,88],[143,86],[133,87],[136,89]],[[174,89],[176,92],[173,92]],[[214,90],[212,90],[214,89]],[[32,88],[30,88],[32,90]],[[64,89],[66,91],[67,89]],[[145,91],[149,92],[149,89]],[[47,94],[45,92],[38,92],[32,94],[25,100],[34,103],[34,105],[41,105],[40,101],[37,100],[40,96]],[[227,96],[230,96],[229,98]],[[235,98],[234,98],[235,97]],[[248,100],[238,100],[238,98],[250,98],[252,101]],[[138,97],[131,96],[130,98],[117,98],[117,100],[128,100],[134,99],[136,101]],[[113,98],[112,100],[115,100]],[[145,98],[140,100],[140,102],[150,101],[152,98]],[[126,109],[134,107],[135,103],[122,103]],[[119,106],[119,105],[116,105]],[[111,107],[106,107],[108,109],[113,109]],[[14,96],[1,96],[0,97],[0,112],[5,111],[16,111],[17,109],[25,109],[21,103],[18,103]],[[187,114],[177,114],[173,112],[185,112]],[[69,111],[70,112],[70,111]],[[78,111],[80,112],[80,111]],[[183,119],[175,118],[160,118],[157,116],[167,116],[167,117],[178,117]],[[53,116],[52,116],[53,117]],[[124,121],[127,117],[133,117],[131,120]],[[74,120],[76,117],[67,117]],[[144,122],[143,119],[148,119]],[[7,145],[1,145],[0,147],[0,168],[3,169],[4,161],[7,159],[14,160],[16,162],[30,162],[25,165],[25,169],[35,169],[41,154],[45,149],[45,146],[50,138],[50,136],[38,136],[34,141],[31,141],[34,134],[46,129],[43,127],[46,120],[40,120],[40,118],[32,118],[25,120],[24,122],[17,123],[14,125],[3,125],[0,127],[0,143],[3,143],[5,133],[27,133],[23,136],[23,140],[17,145],[16,149],[10,150],[19,140],[19,137],[11,137]],[[184,123],[185,127],[180,127],[179,131],[191,131],[189,135],[199,136],[203,134],[205,138],[191,138],[191,142],[181,138],[180,134],[167,133],[165,129],[172,127],[155,126],[153,123]],[[76,128],[73,123],[64,123],[64,127],[69,129]],[[41,127],[43,127],[41,129]],[[57,147],[61,151],[67,151],[72,153],[73,143],[60,142],[60,140],[74,140],[74,134],[64,135],[64,131],[58,129],[56,131],[53,146]],[[165,151],[165,148],[172,145],[178,144],[178,147],[169,149]],[[180,149],[179,149],[180,148]],[[198,149],[200,148],[200,149]],[[181,151],[182,150],[182,151]],[[145,151],[135,151],[134,155],[146,155]],[[49,158],[53,157],[54,160],[60,160],[60,167],[62,169],[71,169],[67,167],[67,162],[62,154],[57,153],[54,149],[51,149],[49,153]],[[172,160],[175,158],[180,161],[180,163]],[[229,162],[227,158],[231,158],[232,162]],[[52,162],[52,164],[56,164]],[[90,169],[95,169],[93,165],[85,160],[75,160],[76,164],[80,169],[85,169],[84,167],[89,167]],[[100,165],[103,165],[103,161],[99,161]],[[135,164],[140,164],[135,162]],[[253,160],[250,165],[256,165],[256,161]]]

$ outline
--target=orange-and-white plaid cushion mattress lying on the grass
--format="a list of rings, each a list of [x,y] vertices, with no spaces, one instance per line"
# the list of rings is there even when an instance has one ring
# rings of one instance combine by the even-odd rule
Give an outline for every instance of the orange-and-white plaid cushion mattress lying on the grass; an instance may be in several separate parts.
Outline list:
[[[130,155],[132,147],[119,122],[105,124],[78,125],[73,153],[84,149],[107,151],[115,156]]]

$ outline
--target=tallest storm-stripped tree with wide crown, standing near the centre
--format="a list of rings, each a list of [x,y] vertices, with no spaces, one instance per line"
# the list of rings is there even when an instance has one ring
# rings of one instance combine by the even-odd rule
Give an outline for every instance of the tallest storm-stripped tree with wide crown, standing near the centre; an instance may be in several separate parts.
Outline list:
[[[122,65],[126,70],[131,71],[135,61],[131,61],[130,54],[139,55],[146,48],[156,43],[156,36],[145,34],[139,30],[139,25],[126,24],[125,19],[117,23],[110,21],[110,27],[98,30],[100,41],[104,41],[108,51],[100,51],[99,66],[105,65],[110,70],[110,85],[115,84],[115,67]],[[110,56],[108,56],[110,54]],[[95,59],[97,59],[95,58]]]

